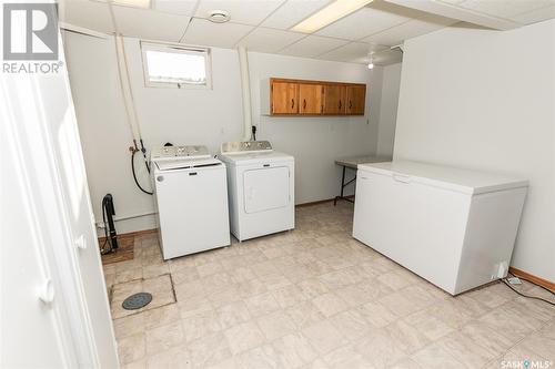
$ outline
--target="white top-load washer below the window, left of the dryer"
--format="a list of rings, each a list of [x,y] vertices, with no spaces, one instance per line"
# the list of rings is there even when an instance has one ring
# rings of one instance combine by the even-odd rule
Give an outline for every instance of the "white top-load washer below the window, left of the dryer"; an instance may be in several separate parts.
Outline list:
[[[205,146],[151,152],[152,188],[163,258],[230,245],[225,164]]]

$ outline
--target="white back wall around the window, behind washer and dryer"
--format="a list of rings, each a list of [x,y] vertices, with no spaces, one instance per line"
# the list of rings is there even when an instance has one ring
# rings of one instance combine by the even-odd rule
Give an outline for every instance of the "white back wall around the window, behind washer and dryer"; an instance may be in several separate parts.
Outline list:
[[[133,93],[148,148],[165,142],[205,144],[216,153],[225,141],[241,140],[242,102],[239,58],[235,50],[212,49],[212,90],[144,88],[137,39],[125,39]],[[113,40],[65,33],[80,134],[94,214],[102,218],[101,198],[111,193],[120,233],[152,228],[154,211],[150,196],[134,185],[128,146],[131,133],[119,91]],[[339,192],[340,168],[335,157],[373,154],[380,120],[382,68],[316,61],[262,53],[249,53],[253,121],[258,139],[269,140],[275,150],[296,160],[296,203],[331,198]],[[353,117],[269,117],[260,115],[259,81],[287,76],[370,84],[366,115]],[[138,166],[143,168],[138,160]],[[139,176],[148,186],[147,174]]]

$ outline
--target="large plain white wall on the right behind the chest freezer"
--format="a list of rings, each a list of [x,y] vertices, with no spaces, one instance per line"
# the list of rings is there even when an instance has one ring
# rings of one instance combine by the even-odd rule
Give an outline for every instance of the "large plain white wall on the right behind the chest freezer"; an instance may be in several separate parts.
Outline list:
[[[523,176],[512,265],[555,280],[555,20],[405,43],[395,158]]]

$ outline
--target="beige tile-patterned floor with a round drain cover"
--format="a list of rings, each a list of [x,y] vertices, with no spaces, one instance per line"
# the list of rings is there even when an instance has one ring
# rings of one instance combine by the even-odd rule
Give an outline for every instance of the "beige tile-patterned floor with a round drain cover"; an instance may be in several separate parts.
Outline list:
[[[165,263],[138,237],[133,260],[104,267],[122,367],[555,365],[555,307],[502,284],[451,297],[351,238],[352,213],[301,207],[293,232]],[[151,305],[122,310],[139,290]]]

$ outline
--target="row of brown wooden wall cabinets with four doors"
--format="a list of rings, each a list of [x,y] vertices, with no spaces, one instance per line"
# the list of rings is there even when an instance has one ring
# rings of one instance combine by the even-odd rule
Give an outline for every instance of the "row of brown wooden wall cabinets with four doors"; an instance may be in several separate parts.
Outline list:
[[[264,115],[364,115],[366,84],[271,78],[261,82]]]

